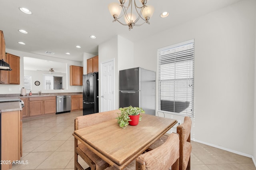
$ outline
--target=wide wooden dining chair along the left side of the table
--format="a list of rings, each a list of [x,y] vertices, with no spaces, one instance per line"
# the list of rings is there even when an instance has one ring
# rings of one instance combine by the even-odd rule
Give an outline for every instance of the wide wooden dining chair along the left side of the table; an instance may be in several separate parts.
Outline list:
[[[111,119],[115,119],[120,113],[120,110],[113,110],[101,113],[94,113],[90,115],[84,115],[76,117],[75,119],[75,130],[80,128],[88,127],[91,125],[96,125]],[[104,170],[108,168],[109,164],[105,162],[102,158],[94,154],[89,148],[84,144],[79,143],[75,138],[75,170],[84,170],[82,166],[78,163],[78,155],[90,166],[91,170]]]

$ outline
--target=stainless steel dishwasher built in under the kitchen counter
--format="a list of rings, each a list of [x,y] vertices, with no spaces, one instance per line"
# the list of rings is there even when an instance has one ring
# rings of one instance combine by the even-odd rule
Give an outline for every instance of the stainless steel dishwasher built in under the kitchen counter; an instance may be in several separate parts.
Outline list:
[[[71,96],[62,95],[56,96],[56,114],[70,112],[71,110]]]

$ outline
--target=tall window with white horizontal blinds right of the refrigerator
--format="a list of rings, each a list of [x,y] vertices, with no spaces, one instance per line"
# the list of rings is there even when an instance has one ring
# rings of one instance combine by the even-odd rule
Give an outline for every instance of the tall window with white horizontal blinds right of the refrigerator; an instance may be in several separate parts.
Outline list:
[[[193,117],[194,40],[158,49],[158,110]]]

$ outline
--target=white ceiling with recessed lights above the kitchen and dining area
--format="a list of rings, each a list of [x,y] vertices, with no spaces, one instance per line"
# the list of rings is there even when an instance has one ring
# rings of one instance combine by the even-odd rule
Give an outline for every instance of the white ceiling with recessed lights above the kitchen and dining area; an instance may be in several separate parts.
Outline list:
[[[129,31],[128,26],[113,23],[108,12],[108,4],[117,0],[0,0],[0,30],[4,32],[8,49],[40,55],[50,51],[54,55],[47,56],[82,61],[84,52],[97,55],[98,44],[116,35],[136,42],[238,1],[148,0],[155,8],[150,25]],[[28,8],[32,15],[22,13],[20,7]],[[165,10],[170,15],[160,18]],[[19,29],[28,34],[18,32]],[[97,38],[91,39],[91,35]]]

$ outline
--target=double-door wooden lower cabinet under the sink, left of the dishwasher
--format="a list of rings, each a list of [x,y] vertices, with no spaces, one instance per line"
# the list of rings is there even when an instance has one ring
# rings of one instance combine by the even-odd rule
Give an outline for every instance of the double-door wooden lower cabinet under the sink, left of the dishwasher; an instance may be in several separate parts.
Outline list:
[[[56,113],[56,96],[29,97],[29,117]]]

